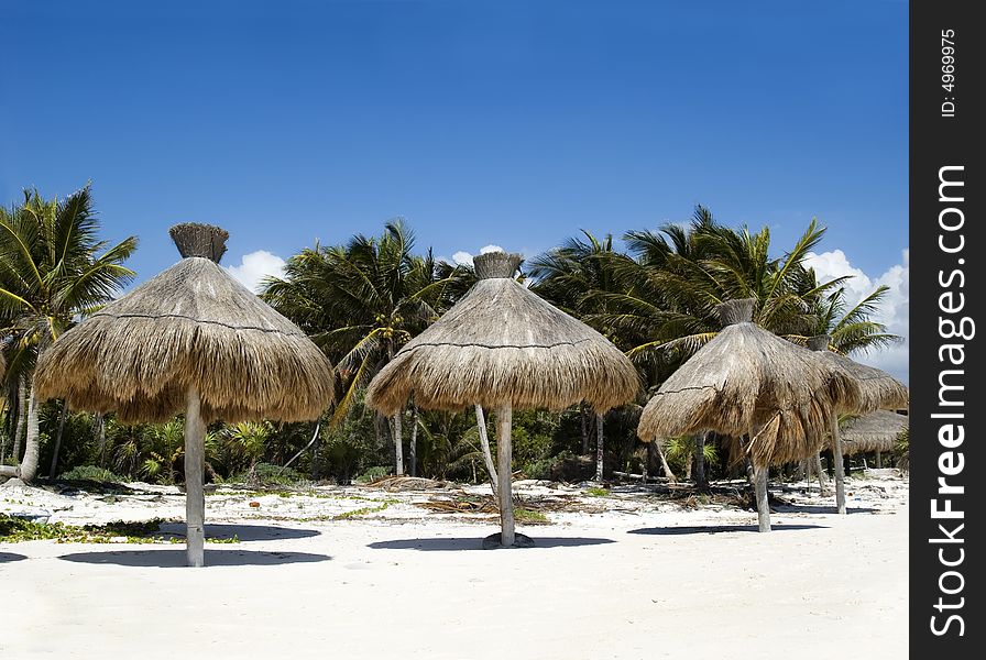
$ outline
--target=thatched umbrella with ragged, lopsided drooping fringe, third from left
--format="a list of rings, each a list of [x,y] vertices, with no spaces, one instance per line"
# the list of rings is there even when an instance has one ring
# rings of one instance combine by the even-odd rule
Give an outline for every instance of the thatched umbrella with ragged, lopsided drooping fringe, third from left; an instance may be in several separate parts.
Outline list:
[[[640,416],[644,441],[701,431],[747,437],[760,531],[770,531],[767,472],[817,452],[830,411],[858,387],[818,355],[752,322],[756,300],[716,307],[723,329],[658,388]]]

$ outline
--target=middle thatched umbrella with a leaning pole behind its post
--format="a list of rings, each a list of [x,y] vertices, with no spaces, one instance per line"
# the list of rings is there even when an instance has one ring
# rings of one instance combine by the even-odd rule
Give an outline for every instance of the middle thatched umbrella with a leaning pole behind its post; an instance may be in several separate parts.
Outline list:
[[[475,285],[381,370],[366,403],[385,415],[402,409],[412,396],[419,408],[496,409],[502,534],[487,543],[510,547],[516,540],[513,409],[560,410],[584,400],[605,413],[632,399],[639,382],[629,360],[602,334],[514,280],[519,255],[491,252],[474,263]]]

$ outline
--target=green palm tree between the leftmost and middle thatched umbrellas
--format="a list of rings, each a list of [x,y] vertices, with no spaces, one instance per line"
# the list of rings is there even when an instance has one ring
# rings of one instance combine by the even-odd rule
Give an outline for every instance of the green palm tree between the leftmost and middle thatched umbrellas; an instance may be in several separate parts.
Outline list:
[[[454,302],[468,277],[437,263],[430,250],[414,255],[414,234],[402,221],[381,237],[355,235],[346,245],[303,250],[288,258],[283,278],[264,283],[261,297],[326,351],[337,365],[343,395],[332,424],[349,413],[357,392],[397,350]],[[395,471],[404,474],[402,414],[391,418]]]

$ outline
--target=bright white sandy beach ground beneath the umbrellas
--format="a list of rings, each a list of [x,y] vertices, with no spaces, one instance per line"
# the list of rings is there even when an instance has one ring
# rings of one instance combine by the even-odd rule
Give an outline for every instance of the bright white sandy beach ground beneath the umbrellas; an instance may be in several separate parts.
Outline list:
[[[132,486],[0,488],[0,512],[182,516],[174,488]],[[493,518],[415,504],[458,487],[226,490],[207,498],[207,535],[240,542],[207,544],[205,569],[183,566],[182,544],[0,543],[0,657],[907,657],[907,484],[889,471],[851,480],[847,516],[773,484],[788,504],[767,535],[754,512],[640,487],[518,491],[582,510],[521,526],[535,548],[484,551]]]

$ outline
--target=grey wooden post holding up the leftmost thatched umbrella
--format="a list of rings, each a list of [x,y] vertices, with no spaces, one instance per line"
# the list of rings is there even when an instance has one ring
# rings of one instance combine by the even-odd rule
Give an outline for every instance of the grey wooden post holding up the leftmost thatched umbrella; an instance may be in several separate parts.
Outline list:
[[[185,526],[189,566],[202,566],[206,544],[206,495],[202,479],[206,466],[206,425],[201,417],[198,389],[188,389],[185,410]]]

